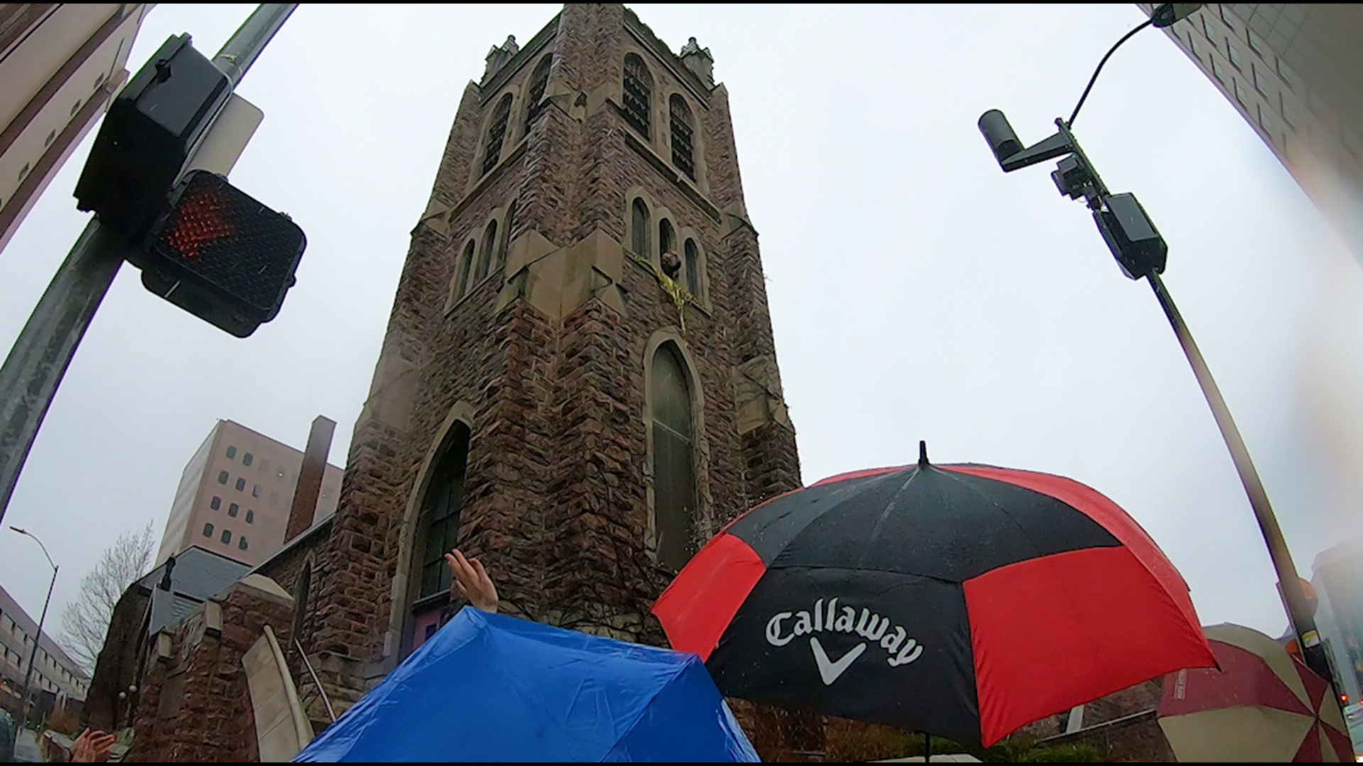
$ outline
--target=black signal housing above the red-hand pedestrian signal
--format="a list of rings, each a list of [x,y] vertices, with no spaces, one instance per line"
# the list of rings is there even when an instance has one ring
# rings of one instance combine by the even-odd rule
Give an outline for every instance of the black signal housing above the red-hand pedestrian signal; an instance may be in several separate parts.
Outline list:
[[[142,239],[230,97],[232,80],[188,34],[168,40],[109,105],[76,181],[76,207]]]

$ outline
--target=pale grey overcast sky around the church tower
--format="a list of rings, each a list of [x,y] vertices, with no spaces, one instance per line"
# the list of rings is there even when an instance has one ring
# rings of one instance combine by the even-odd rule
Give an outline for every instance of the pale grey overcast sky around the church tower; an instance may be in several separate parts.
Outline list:
[[[251,5],[158,5],[211,56]],[[634,5],[695,35],[728,86],[747,206],[807,482],[935,462],[1070,476],[1164,548],[1204,623],[1285,626],[1268,553],[1182,352],[1050,166],[1005,176],[975,123],[1024,142],[1069,114],[1135,5]],[[50,620],[121,532],[159,536],[217,418],[301,447],[323,413],[343,463],[408,237],[469,79],[556,5],[303,5],[240,93],[266,119],[232,174],[308,234],[284,311],[236,339],[125,266],[67,372],[4,523],[61,566]],[[1161,33],[1112,59],[1075,132],[1169,243],[1165,281],[1264,474],[1299,571],[1363,532],[1363,269],[1225,98]],[[0,254],[8,348],[86,217],[75,153]],[[48,567],[0,534],[0,583],[37,616]],[[56,623],[53,623],[56,624]]]

